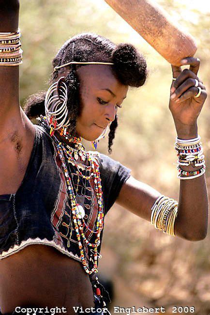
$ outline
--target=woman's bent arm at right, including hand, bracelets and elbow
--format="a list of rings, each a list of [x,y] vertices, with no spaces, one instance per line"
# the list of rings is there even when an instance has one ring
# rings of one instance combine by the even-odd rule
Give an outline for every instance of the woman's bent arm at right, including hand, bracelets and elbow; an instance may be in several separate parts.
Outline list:
[[[161,194],[133,177],[122,186],[117,202],[139,217],[151,220],[157,228],[166,230],[166,226],[174,226],[176,236],[196,241],[204,239],[208,229],[205,160],[197,134],[197,117],[207,93],[197,77],[199,59],[185,58],[182,64],[190,64],[190,68],[182,71],[181,67],[172,66],[174,79],[169,102],[178,136],[175,147],[181,179],[177,218],[173,221],[177,205],[172,200],[162,198],[154,204]]]

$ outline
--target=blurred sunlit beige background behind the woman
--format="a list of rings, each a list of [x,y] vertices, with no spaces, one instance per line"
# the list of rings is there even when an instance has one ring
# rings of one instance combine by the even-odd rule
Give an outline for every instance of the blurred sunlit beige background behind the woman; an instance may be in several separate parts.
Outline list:
[[[198,76],[209,90],[210,1],[158,3],[195,37],[195,56],[201,60]],[[128,93],[120,110],[111,157],[131,168],[137,179],[178,199],[176,133],[168,110],[170,64],[103,0],[21,0],[20,28],[24,50],[20,67],[22,105],[30,94],[47,89],[52,58],[76,33],[92,31],[139,48],[147,59],[149,78],[145,86]],[[198,124],[210,184],[209,105],[208,98]],[[98,150],[107,153],[106,148],[104,140]],[[195,306],[194,314],[210,314],[209,244],[209,235],[200,242],[163,235],[149,222],[114,205],[105,218],[103,258],[99,264],[101,274],[114,285],[112,306],[163,306],[168,314],[175,305]]]

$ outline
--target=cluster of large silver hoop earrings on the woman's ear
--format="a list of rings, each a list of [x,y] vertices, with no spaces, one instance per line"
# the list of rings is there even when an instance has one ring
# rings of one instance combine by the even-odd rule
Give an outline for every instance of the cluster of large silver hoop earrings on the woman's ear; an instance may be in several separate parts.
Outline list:
[[[65,130],[70,126],[67,109],[67,85],[65,78],[60,78],[48,89],[45,96],[45,115],[50,126],[50,135],[53,136],[55,130],[63,127]]]

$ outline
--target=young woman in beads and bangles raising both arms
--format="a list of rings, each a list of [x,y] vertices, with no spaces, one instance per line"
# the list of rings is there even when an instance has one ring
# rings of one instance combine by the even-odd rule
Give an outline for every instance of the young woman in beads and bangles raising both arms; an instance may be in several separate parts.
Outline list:
[[[1,313],[103,308],[108,298],[96,272],[104,215],[115,202],[170,235],[194,241],[207,234],[205,161],[196,124],[207,94],[197,77],[199,61],[186,58],[182,64],[190,69],[184,71],[172,66],[178,205],[119,162],[81,145],[81,137],[96,145],[109,128],[111,150],[128,87],[146,80],[146,62],[135,47],[90,33],[71,38],[53,60],[47,93],[29,99],[27,117],[19,105],[19,1],[0,4]],[[33,125],[29,118],[40,114],[39,126]]]

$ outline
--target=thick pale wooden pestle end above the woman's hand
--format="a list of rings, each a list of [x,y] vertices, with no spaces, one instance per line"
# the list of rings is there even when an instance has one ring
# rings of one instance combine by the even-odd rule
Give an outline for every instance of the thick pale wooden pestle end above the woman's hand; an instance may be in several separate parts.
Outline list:
[[[193,57],[195,39],[183,31],[157,3],[151,0],[105,0],[169,63]]]

